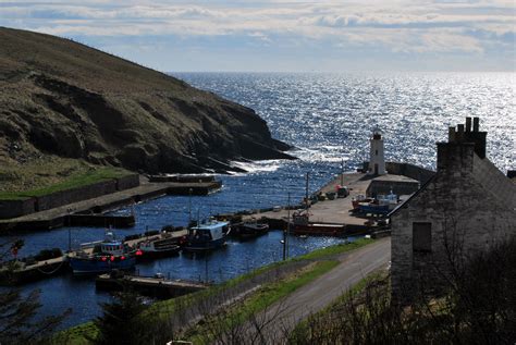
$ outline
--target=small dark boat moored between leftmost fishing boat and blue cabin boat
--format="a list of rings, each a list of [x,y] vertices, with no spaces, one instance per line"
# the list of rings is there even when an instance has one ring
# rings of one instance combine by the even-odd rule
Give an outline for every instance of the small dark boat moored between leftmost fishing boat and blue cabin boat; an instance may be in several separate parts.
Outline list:
[[[181,246],[186,243],[186,236],[173,236],[171,233],[162,232],[157,236],[144,239],[138,244],[142,255],[138,260],[173,256],[180,252]]]

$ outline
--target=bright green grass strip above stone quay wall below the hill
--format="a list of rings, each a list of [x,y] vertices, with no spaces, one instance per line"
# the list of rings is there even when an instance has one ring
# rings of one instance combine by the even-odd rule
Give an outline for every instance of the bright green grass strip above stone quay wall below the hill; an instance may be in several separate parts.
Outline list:
[[[78,174],[73,174],[67,178],[46,186],[39,187],[32,190],[24,192],[2,192],[0,193],[1,200],[12,200],[12,199],[26,199],[29,197],[39,197],[44,195],[49,195],[57,192],[62,192],[66,189],[73,189],[77,187],[87,186],[102,181],[109,181],[113,178],[120,178],[130,174],[126,170],[102,167],[99,169],[89,169],[86,172],[81,172]]]

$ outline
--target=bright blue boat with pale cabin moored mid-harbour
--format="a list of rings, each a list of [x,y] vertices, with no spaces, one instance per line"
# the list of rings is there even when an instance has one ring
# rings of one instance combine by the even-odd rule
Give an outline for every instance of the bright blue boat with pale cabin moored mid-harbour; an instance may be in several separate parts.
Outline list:
[[[214,220],[193,226],[188,230],[187,244],[183,250],[207,251],[220,248],[225,245],[229,231],[229,222]]]

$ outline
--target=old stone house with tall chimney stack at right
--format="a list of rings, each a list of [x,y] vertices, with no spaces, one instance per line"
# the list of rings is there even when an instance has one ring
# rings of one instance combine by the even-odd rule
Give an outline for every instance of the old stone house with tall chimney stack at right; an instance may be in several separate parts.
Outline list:
[[[486,157],[479,119],[438,143],[437,173],[390,214],[393,296],[439,288],[451,268],[516,235],[516,185]]]

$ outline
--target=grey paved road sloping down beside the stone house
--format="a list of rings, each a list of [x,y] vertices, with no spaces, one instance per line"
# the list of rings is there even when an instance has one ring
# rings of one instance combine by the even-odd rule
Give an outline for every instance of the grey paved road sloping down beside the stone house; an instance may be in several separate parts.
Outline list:
[[[266,340],[256,340],[254,343],[282,344],[285,331],[292,331],[299,321],[327,307],[366,275],[385,267],[391,259],[391,237],[344,254],[339,259],[341,263],[336,268],[258,316],[260,323],[268,323],[261,332]],[[245,329],[254,328],[249,324]]]

